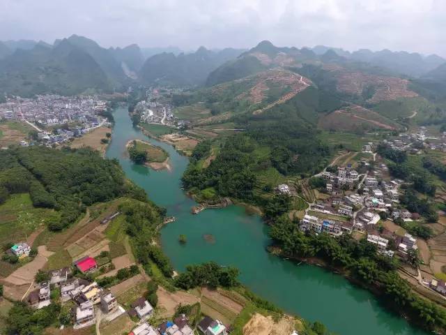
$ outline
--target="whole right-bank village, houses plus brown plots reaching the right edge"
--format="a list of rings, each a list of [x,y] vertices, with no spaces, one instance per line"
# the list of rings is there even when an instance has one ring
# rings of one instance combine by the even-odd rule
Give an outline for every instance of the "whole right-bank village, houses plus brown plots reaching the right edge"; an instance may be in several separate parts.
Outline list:
[[[433,144],[429,140],[437,142]],[[404,133],[392,140],[364,144],[362,152],[355,154],[362,158],[346,165],[331,164],[309,178],[309,188],[317,193],[312,200],[302,198],[305,192],[297,190],[302,184],[293,182],[279,184],[275,192],[307,203],[305,211],[295,217],[303,232],[325,232],[333,237],[348,234],[358,241],[366,239],[376,246],[378,253],[399,260],[403,278],[446,299],[445,280],[436,276],[442,263],[429,260],[429,248],[433,249],[434,259],[437,253],[443,255],[440,251],[443,235],[428,246],[424,239],[408,232],[410,228],[426,228],[429,223],[420,213],[410,212],[401,204],[400,198],[408,183],[392,177],[385,160],[376,152],[378,144],[412,155],[422,154],[422,149],[446,150],[445,133],[433,137],[426,127],[420,127],[414,133]]]

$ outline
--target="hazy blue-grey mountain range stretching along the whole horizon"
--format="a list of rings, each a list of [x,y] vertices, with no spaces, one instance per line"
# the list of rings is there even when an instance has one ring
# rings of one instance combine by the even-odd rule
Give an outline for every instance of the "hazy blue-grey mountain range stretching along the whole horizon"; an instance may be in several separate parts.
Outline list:
[[[369,75],[419,78],[446,82],[445,59],[409,52],[358,50],[316,46],[275,47],[263,41],[251,50],[207,50],[183,53],[176,47],[138,45],[105,48],[82,36],[55,40],[0,42],[0,91],[30,96],[39,93],[78,94],[93,89],[114,91],[131,84],[178,87],[214,85],[269,68],[331,66]],[[339,70],[339,69],[338,69]]]

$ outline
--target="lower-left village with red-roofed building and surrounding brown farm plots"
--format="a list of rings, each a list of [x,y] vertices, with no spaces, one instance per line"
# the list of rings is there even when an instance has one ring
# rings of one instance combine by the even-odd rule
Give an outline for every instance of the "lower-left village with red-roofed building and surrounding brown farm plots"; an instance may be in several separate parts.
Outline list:
[[[17,241],[1,256],[3,262],[22,265],[6,278],[5,297],[20,299],[22,296],[22,301],[36,309],[61,304],[70,319],[66,325],[72,325],[73,329],[96,327],[103,334],[122,334],[121,330],[131,335],[229,334],[229,320],[243,308],[240,302],[224,297],[218,291],[203,289],[199,296],[203,299],[204,315],[192,324],[179,308],[199,302],[199,296],[168,292],[132,261],[133,256],[125,248],[122,247],[119,253],[114,250],[116,242],[112,242],[114,239],[109,230],[121,229],[120,215],[116,204],[112,204],[100,217],[73,228],[72,237],[67,236],[68,240],[74,241],[69,244],[68,253],[52,253],[44,246],[35,248],[31,243]],[[171,219],[167,218],[167,221]],[[105,236],[107,239],[103,239]],[[125,244],[125,241],[120,243]],[[70,256],[72,262],[68,265],[66,258]],[[67,266],[42,269],[47,263],[44,259],[53,263],[52,258],[59,260],[56,264]],[[53,265],[50,267],[54,268]],[[227,306],[221,307],[227,312],[219,314],[210,307],[206,309],[204,306],[208,305],[204,301],[209,301],[207,304],[213,308],[220,306],[217,303],[220,301]],[[204,313],[206,310],[209,312]],[[224,319],[216,318],[217,315]],[[228,319],[224,315],[231,317]],[[116,327],[118,333],[110,330]]]

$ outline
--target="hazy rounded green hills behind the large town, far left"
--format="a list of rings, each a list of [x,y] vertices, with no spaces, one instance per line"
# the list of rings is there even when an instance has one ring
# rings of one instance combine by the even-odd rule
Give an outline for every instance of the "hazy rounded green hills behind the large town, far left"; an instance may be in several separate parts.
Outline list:
[[[0,91],[19,96],[109,91],[112,85],[88,53],[63,40],[54,48],[17,49],[0,60]]]

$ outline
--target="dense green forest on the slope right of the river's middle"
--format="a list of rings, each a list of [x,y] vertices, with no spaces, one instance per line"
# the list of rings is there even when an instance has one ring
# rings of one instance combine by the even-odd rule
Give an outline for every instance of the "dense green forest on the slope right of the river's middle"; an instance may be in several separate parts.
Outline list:
[[[331,151],[312,126],[312,114],[334,106],[326,96],[309,91],[267,112],[234,117],[237,127],[245,131],[223,143],[199,144],[183,175],[183,186],[192,193],[213,188],[219,195],[264,205],[254,194],[258,174],[274,169],[285,176],[308,177],[325,167]],[[202,168],[200,161],[215,145],[215,159]]]

